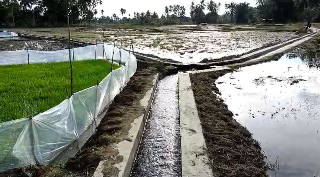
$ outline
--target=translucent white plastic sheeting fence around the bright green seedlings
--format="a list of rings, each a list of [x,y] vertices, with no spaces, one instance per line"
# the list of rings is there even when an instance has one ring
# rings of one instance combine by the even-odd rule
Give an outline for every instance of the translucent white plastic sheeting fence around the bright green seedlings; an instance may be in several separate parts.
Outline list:
[[[76,60],[92,59],[92,56],[94,58],[95,46],[76,49]],[[103,46],[99,45],[97,58],[103,57],[102,49]],[[105,50],[107,58],[112,58],[113,46],[105,45]],[[66,51],[68,50],[37,51],[40,56],[32,54],[33,58],[30,59],[33,62],[64,61],[68,56]],[[21,52],[24,51],[12,52],[16,55],[11,56],[7,63],[24,63],[23,59],[17,58]],[[40,58],[43,57],[47,59],[41,61]],[[128,51],[122,50],[120,62],[120,50],[116,48],[114,60],[121,63],[122,67],[109,73],[97,86],[75,93],[32,119],[1,123],[0,171],[28,164],[51,165],[73,157],[100,124],[103,118],[100,114],[112,103],[136,71],[136,58],[132,54],[129,57]]]

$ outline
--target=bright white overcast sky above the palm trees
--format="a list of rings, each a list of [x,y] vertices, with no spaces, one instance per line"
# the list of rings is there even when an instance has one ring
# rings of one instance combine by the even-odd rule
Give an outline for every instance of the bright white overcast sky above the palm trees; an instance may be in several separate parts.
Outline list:
[[[251,6],[256,6],[255,0],[214,0],[216,3],[221,3],[220,10],[218,14],[222,15],[226,9],[224,7],[224,4],[230,3],[242,3],[247,2]],[[111,17],[112,14],[116,13],[116,15],[120,18],[122,18],[122,15],[120,13],[120,9],[124,8],[127,13],[124,15],[124,17],[129,17],[129,14],[131,14],[131,17],[133,17],[134,12],[146,12],[147,10],[150,10],[150,12],[156,11],[161,17],[162,14],[164,14],[164,7],[167,5],[173,5],[173,4],[179,4],[184,5],[187,8],[186,16],[190,16],[190,10],[189,7],[191,5],[192,0],[102,0],[102,5],[98,5],[96,9],[98,10],[98,14],[96,17],[100,17],[101,9],[104,10],[104,16]],[[206,4],[209,2],[209,0],[205,1]],[[195,0],[195,4],[199,4],[200,0]],[[207,12],[205,12],[207,13]]]

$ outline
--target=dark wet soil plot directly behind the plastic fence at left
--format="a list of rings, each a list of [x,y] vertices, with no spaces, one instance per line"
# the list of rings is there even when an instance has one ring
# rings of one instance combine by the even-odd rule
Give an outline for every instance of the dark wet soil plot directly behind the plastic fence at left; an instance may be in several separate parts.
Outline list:
[[[67,41],[41,40],[20,37],[19,40],[0,41],[0,51],[26,50],[27,45],[29,50],[62,50],[69,48]],[[73,43],[73,46],[83,47],[85,45]]]

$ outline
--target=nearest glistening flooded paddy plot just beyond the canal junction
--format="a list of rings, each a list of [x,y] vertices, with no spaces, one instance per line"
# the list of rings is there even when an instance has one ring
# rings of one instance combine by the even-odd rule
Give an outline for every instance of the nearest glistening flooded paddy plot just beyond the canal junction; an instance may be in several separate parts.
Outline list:
[[[217,60],[299,37],[294,32],[227,31],[117,36],[133,42],[135,52],[182,63]]]

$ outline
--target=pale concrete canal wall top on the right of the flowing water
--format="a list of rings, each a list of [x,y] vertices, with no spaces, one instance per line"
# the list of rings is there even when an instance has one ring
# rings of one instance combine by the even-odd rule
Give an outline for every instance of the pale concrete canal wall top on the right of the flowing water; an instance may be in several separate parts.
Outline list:
[[[189,74],[178,77],[182,177],[212,177]]]

